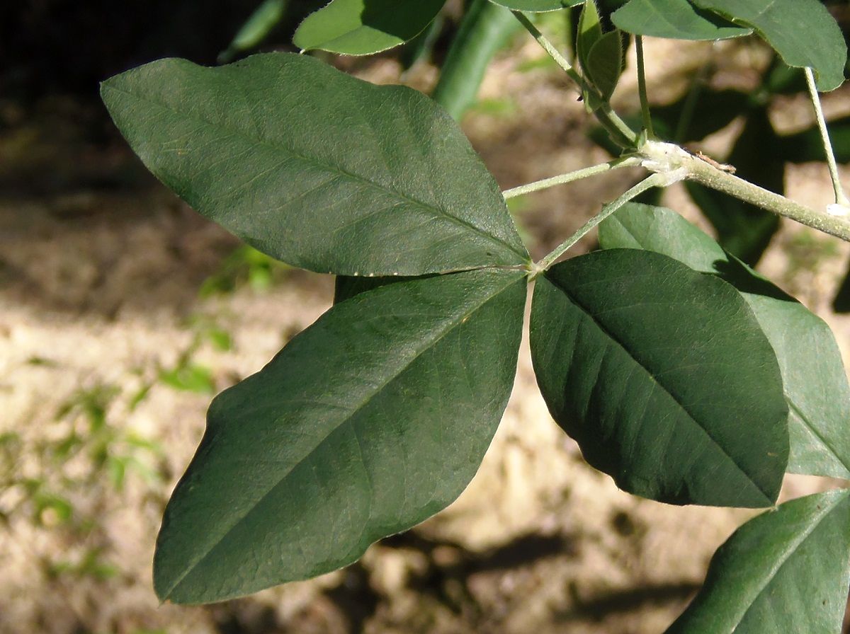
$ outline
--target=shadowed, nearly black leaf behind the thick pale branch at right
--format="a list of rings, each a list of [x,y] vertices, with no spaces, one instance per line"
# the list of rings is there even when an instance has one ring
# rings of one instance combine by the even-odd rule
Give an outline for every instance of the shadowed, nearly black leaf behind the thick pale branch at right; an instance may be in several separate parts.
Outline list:
[[[736,174],[776,194],[785,192],[785,162],[767,109],[752,110],[728,163]],[[717,229],[723,249],[755,265],[779,229],[779,216],[727,194],[686,182],[688,193]]]

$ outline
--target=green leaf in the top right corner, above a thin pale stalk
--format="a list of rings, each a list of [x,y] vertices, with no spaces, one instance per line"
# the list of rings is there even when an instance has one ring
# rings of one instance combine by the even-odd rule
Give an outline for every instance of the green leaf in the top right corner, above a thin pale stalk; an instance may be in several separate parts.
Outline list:
[[[785,64],[814,70],[819,90],[834,90],[844,82],[847,44],[838,23],[818,0],[690,1],[754,28]]]

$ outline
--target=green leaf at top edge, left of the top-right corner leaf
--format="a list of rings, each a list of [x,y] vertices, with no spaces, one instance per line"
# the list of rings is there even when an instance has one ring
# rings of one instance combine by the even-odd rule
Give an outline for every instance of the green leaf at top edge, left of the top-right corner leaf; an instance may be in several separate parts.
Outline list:
[[[611,14],[611,21],[635,35],[674,40],[724,40],[752,33],[750,28],[695,8],[688,0],[631,0]]]

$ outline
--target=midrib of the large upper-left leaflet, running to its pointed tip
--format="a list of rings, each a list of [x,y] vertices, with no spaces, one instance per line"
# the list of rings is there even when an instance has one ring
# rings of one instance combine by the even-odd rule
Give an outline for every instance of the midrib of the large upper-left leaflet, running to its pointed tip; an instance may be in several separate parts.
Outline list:
[[[126,90],[124,88],[116,87],[110,81],[105,81],[104,84],[103,84],[103,87],[107,90],[114,90],[117,93],[125,94],[128,97],[137,99],[139,101],[159,106],[161,109],[172,112],[174,115],[178,115],[178,116],[183,117],[184,119],[188,119],[190,121],[196,121],[198,123],[201,123],[204,126],[212,128],[213,130],[217,129],[216,124],[214,124],[212,121],[208,121],[207,119],[205,119],[205,118],[203,118],[199,115],[194,115],[194,116],[193,115],[187,115],[184,111],[175,109],[172,106],[165,104],[161,101],[158,101],[154,98],[139,96],[139,94],[133,93],[132,91]],[[313,157],[304,156],[303,154],[300,154],[300,153],[296,152],[295,150],[287,148],[283,145],[271,143],[271,142],[269,142],[267,140],[263,140],[261,138],[252,137],[250,134],[248,134],[244,130],[239,129],[238,127],[218,126],[218,129],[223,129],[223,130],[229,132],[229,134],[231,134],[233,136],[242,137],[249,142],[257,143],[258,145],[266,146],[266,147],[274,150],[275,152],[280,152],[281,154],[288,153],[288,154],[296,157],[297,159],[302,160],[305,163],[312,164],[312,165],[314,165],[314,166],[316,166],[316,167],[318,167],[318,168],[320,168],[324,171],[328,171],[328,172],[331,172],[331,173],[336,172],[337,174],[340,174],[343,177],[348,177],[350,180],[352,180],[354,182],[360,182],[360,183],[363,183],[367,186],[370,186],[371,188],[375,188],[379,191],[382,191],[384,194],[394,195],[394,196],[398,197],[399,199],[402,199],[402,200],[410,203],[411,205],[415,205],[415,206],[420,207],[424,210],[433,211],[438,216],[445,216],[445,218],[449,219],[451,222],[455,222],[457,225],[460,225],[462,227],[467,227],[467,228],[473,230],[473,232],[479,233],[480,235],[484,236],[484,238],[487,238],[488,240],[490,240],[490,242],[492,242],[494,244],[498,244],[502,248],[507,247],[507,249],[510,250],[511,253],[513,253],[514,255],[519,255],[521,262],[527,261],[527,255],[524,255],[524,254],[520,253],[518,250],[514,249],[511,244],[507,244],[507,242],[504,242],[500,238],[496,238],[496,236],[493,236],[490,233],[487,233],[486,231],[484,231],[484,229],[482,229],[480,227],[476,227],[471,222],[468,222],[468,221],[466,221],[466,220],[464,220],[464,219],[462,219],[458,216],[454,216],[453,214],[450,214],[448,210],[445,210],[445,209],[442,209],[440,207],[431,205],[431,204],[426,203],[425,201],[422,201],[422,200],[417,200],[417,199],[411,198],[411,196],[409,196],[407,194],[403,194],[402,192],[399,192],[398,190],[396,190],[394,188],[389,188],[389,187],[383,185],[382,183],[370,181],[367,178],[361,177],[358,174],[354,174],[353,172],[343,170],[342,167],[334,166],[334,165],[331,165],[329,163],[325,163],[325,162],[317,160]],[[216,139],[216,141],[218,141],[218,140],[220,140],[220,137]],[[211,143],[215,143],[215,142],[211,142]],[[154,171],[153,168],[150,168],[150,169],[151,169],[151,171]],[[520,262],[518,262],[518,264],[519,263]]]

